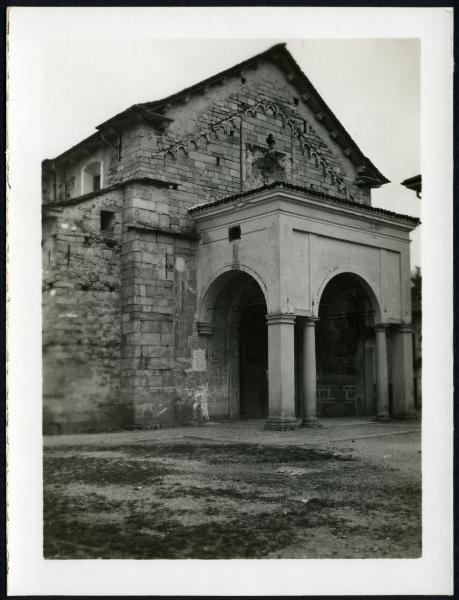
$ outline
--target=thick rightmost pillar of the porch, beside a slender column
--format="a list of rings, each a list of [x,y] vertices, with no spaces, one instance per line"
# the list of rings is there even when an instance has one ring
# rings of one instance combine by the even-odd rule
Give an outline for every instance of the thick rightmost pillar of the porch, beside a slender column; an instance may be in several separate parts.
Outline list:
[[[413,386],[413,331],[399,325],[392,332],[392,393],[394,417],[416,419]]]

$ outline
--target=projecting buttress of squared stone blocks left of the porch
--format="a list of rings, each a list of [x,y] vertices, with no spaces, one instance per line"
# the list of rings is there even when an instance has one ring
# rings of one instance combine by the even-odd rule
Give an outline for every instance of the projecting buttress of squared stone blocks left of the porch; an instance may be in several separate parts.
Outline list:
[[[132,402],[137,425],[190,421],[196,413],[194,394],[202,383],[191,370],[196,241],[167,231],[167,194],[150,185],[125,188],[122,401]]]

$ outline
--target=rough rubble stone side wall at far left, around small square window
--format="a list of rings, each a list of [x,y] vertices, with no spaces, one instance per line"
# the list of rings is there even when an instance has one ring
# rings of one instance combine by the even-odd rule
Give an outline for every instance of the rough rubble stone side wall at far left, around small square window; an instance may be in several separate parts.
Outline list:
[[[114,211],[112,232],[100,211]],[[44,431],[113,429],[131,421],[119,404],[120,193],[44,218]]]

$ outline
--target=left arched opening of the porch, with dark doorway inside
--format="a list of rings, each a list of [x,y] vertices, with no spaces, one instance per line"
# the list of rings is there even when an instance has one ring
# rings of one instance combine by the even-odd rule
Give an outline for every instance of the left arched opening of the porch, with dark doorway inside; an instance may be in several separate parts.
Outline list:
[[[267,416],[266,312],[263,290],[243,271],[223,273],[207,290],[198,329],[212,331],[206,337],[212,416]]]

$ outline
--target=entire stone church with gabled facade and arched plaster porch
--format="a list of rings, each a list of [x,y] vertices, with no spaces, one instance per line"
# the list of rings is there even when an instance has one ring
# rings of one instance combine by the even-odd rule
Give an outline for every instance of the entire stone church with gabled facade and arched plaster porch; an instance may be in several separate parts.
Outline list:
[[[44,432],[413,416],[387,181],[284,44],[44,160]]]

